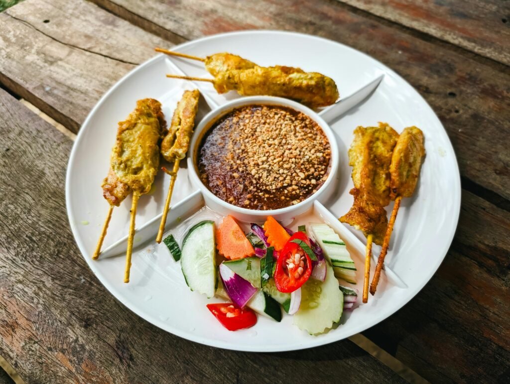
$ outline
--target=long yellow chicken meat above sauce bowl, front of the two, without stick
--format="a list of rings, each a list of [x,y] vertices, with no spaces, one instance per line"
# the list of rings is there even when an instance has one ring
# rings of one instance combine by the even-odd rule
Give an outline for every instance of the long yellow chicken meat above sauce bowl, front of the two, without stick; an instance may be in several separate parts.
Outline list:
[[[243,96],[287,97],[310,108],[334,104],[339,98],[337,85],[328,76],[279,65],[222,71],[215,75],[213,85],[218,93],[234,90]]]

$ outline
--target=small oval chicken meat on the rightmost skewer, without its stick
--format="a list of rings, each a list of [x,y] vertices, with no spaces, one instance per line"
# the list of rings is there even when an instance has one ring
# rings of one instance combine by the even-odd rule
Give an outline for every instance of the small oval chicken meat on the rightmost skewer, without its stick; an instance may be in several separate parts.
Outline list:
[[[398,138],[390,166],[390,198],[411,197],[418,182],[425,156],[423,132],[416,126],[407,127]]]

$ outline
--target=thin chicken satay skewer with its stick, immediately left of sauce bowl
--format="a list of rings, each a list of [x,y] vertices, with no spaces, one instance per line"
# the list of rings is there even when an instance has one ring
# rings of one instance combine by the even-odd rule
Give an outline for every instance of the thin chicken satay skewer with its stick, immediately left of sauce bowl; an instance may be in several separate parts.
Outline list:
[[[173,112],[172,123],[168,134],[165,136],[161,143],[161,154],[169,163],[173,162],[173,169],[168,172],[163,167],[163,171],[170,175],[170,185],[168,186],[168,193],[166,196],[165,207],[163,215],[161,216],[160,227],[156,242],[161,243],[163,239],[163,232],[165,232],[166,218],[170,210],[170,199],[172,198],[173,187],[177,178],[177,171],[179,171],[179,163],[186,157],[188,152],[191,135],[195,127],[195,116],[198,110],[198,98],[200,92],[198,89],[193,91],[185,91],[183,97],[177,103],[177,107]]]

